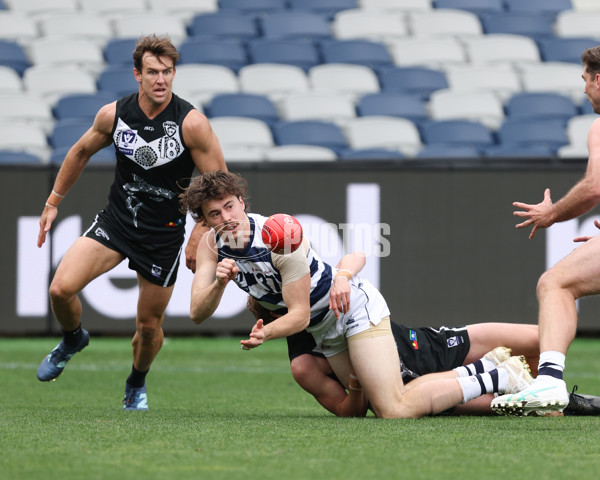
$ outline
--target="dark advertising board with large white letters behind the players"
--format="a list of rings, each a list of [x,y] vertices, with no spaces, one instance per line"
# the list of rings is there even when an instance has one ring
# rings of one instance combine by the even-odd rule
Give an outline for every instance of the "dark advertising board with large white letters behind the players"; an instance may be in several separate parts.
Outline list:
[[[367,253],[364,275],[379,286],[392,318],[405,325],[535,323],[540,274],[595,234],[594,213],[553,226],[534,240],[516,230],[513,201],[538,203],[546,187],[558,199],[583,175],[582,162],[421,168],[408,163],[232,164],[250,186],[252,211],[297,216],[323,258]],[[2,167],[1,335],[56,334],[48,285],[62,255],[106,203],[112,168],[90,166],[60,208],[48,242],[37,248],[39,214],[56,170]],[[191,222],[189,227],[191,227]],[[182,259],[164,323],[167,334],[249,331],[245,294],[228,287],[214,317],[188,317],[192,274]],[[94,334],[131,334],[137,287],[126,262],[81,295]],[[600,329],[600,300],[579,303],[582,332]]]

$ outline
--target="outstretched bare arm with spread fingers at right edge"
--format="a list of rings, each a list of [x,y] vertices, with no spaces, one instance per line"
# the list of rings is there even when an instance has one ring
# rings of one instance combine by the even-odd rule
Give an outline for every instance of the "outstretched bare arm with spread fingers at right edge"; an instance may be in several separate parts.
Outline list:
[[[544,192],[544,200],[537,205],[514,202],[521,209],[513,214],[525,221],[517,228],[532,226],[529,238],[534,238],[540,228],[548,228],[589,212],[600,203],[600,120],[596,120],[588,133],[589,160],[584,177],[558,202],[552,203],[550,189]]]

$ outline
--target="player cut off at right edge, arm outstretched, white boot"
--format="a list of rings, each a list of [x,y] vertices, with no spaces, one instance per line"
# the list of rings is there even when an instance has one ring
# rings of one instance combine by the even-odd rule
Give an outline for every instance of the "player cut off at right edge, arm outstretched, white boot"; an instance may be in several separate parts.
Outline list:
[[[600,47],[581,55],[585,94],[595,113],[600,113]],[[533,239],[541,228],[564,222],[589,212],[600,203],[600,119],[588,132],[589,160],[583,178],[558,202],[552,203],[550,189],[537,205],[514,202],[520,210],[514,215],[524,219],[517,228],[532,227]],[[539,374],[527,389],[493,400],[498,413],[528,415],[531,412],[562,411],[569,403],[563,380],[565,357],[577,332],[575,300],[600,293],[600,237],[576,248],[539,279],[538,324],[540,327]]]

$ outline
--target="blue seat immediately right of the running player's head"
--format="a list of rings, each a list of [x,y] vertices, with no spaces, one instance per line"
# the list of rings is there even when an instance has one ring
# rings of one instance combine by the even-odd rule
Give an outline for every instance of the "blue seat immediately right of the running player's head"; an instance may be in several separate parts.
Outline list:
[[[180,63],[208,63],[221,65],[237,72],[248,64],[244,45],[235,39],[219,40],[189,37],[179,47]]]

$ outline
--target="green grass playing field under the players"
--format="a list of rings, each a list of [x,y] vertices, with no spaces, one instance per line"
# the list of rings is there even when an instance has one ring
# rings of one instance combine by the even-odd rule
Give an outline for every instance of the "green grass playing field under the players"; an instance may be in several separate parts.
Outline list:
[[[0,479],[591,479],[600,417],[336,418],[298,387],[285,342],[167,339],[149,412],[121,409],[128,339],[92,338],[56,381],[56,339],[0,339]],[[577,340],[566,380],[600,395],[600,340]]]

